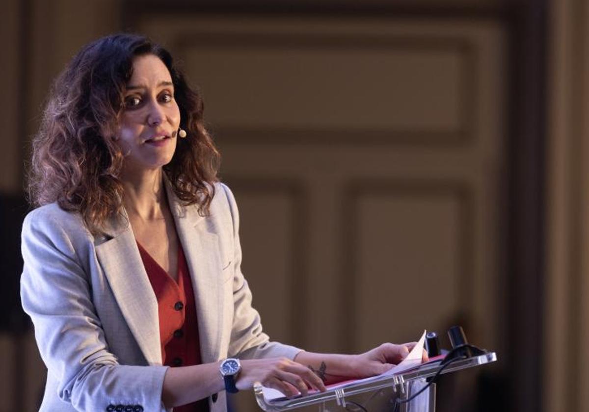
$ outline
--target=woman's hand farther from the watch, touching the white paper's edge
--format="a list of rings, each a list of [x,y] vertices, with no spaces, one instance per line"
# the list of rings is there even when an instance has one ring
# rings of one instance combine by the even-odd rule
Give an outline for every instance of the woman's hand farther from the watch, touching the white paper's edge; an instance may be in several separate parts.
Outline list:
[[[368,352],[356,355],[353,368],[359,377],[380,375],[405,359],[415,345],[416,342],[401,345],[383,343]],[[421,359],[423,362],[429,360],[425,350]]]

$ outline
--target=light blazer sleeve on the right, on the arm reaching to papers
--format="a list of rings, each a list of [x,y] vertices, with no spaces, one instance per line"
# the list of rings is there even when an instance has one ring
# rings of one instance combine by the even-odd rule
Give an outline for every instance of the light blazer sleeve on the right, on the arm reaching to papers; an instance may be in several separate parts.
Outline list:
[[[262,330],[260,314],[252,307],[252,292],[241,273],[241,245],[239,242],[239,212],[233,193],[221,184],[229,202],[233,224],[233,326],[229,355],[239,358],[287,357],[293,359],[299,348],[272,342]]]

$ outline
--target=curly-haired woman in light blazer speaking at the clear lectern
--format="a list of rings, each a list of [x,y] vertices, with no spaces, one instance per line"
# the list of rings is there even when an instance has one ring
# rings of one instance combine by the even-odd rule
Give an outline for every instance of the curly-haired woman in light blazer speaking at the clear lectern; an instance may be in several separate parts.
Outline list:
[[[260,381],[304,395],[382,373],[411,349],[269,341],[200,95],[148,39],[85,46],[55,82],[33,149],[40,207],[23,225],[21,294],[48,367],[42,411],[223,411],[224,390]]]

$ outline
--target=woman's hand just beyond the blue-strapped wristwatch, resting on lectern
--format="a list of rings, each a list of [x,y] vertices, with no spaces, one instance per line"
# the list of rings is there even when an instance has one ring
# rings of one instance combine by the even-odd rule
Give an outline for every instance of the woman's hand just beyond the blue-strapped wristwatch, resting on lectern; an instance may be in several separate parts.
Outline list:
[[[309,388],[325,391],[323,381],[312,370],[288,358],[241,360],[237,388],[250,389],[256,382],[277,389],[287,397],[299,393],[305,396]]]

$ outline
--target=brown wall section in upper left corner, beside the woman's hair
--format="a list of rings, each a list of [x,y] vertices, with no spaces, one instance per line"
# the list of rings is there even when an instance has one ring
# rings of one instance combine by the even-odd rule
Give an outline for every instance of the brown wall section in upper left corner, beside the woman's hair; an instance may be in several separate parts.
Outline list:
[[[38,125],[51,79],[82,45],[120,29],[119,3],[2,2],[0,35],[7,41],[0,75],[10,98],[0,102],[0,121],[5,130],[0,150],[0,192],[22,188],[22,157]]]

